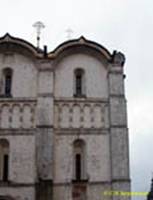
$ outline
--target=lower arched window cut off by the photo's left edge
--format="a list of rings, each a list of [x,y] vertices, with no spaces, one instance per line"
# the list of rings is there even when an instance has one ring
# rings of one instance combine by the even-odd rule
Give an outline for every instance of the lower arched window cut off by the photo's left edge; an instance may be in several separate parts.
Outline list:
[[[9,171],[9,142],[0,139],[0,180],[8,181]]]

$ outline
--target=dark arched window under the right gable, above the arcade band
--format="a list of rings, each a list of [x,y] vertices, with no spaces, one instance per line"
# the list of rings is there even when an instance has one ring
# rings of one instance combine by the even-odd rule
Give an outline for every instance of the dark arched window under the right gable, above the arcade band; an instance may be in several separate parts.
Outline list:
[[[75,91],[74,95],[80,97],[85,95],[85,73],[83,69],[76,69],[74,72],[75,77]]]

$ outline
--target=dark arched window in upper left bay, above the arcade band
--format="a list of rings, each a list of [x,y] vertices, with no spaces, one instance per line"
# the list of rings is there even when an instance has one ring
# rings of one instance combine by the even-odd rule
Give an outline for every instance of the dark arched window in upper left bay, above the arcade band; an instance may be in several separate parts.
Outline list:
[[[7,97],[11,96],[12,89],[12,69],[5,68],[3,70],[3,81],[4,81],[4,95]]]

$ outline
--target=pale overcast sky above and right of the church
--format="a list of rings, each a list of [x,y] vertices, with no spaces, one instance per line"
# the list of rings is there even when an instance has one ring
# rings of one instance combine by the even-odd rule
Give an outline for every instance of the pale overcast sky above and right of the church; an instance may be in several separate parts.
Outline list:
[[[5,0],[0,35],[9,32],[33,44],[36,21],[42,21],[41,45],[51,51],[73,29],[112,52],[126,55],[126,97],[133,191],[150,189],[153,172],[153,1],[152,0]],[[137,197],[137,199],[145,199]]]

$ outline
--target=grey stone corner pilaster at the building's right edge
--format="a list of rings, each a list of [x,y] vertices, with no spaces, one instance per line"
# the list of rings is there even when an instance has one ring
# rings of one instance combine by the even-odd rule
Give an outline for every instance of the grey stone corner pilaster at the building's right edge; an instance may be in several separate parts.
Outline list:
[[[108,73],[112,189],[114,191],[130,191],[129,140],[123,74],[124,62],[124,55],[114,52]],[[112,197],[113,200],[122,198],[122,196]],[[129,196],[124,198],[130,199]]]

